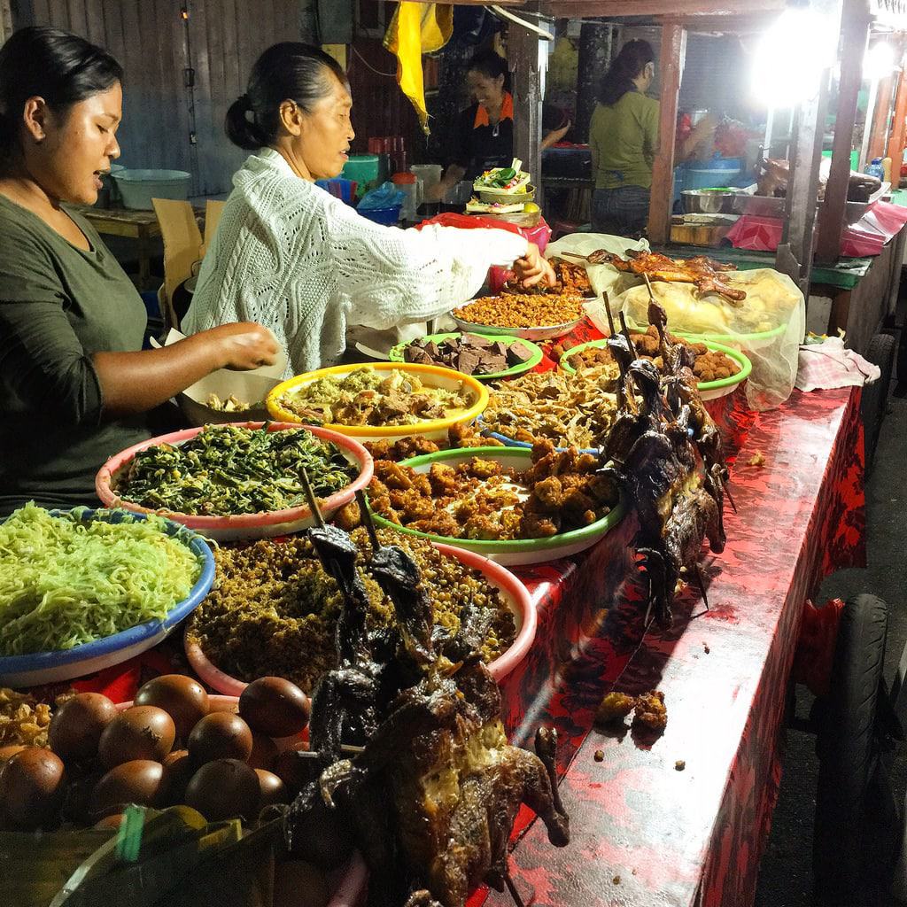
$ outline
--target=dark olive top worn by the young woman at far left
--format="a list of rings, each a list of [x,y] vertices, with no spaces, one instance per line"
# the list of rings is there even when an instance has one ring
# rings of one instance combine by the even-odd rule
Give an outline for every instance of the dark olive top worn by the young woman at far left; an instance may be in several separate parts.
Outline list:
[[[147,317],[97,232],[83,251],[0,195],[0,515],[34,499],[97,504],[104,461],[149,437],[143,417],[102,417],[92,356],[141,349]]]

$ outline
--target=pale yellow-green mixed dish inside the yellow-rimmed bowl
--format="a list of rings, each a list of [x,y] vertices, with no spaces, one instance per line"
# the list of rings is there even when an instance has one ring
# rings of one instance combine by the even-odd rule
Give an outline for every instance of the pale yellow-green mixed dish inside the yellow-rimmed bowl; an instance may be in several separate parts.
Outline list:
[[[371,366],[343,377],[318,378],[278,399],[278,404],[308,424],[414,425],[462,413],[473,393],[425,385],[402,369],[390,374]]]

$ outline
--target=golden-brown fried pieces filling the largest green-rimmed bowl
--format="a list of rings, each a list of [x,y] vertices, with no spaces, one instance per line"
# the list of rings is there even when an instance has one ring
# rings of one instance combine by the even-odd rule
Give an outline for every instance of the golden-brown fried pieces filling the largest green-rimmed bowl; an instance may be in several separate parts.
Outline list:
[[[532,466],[518,472],[474,456],[428,473],[390,460],[375,462],[369,499],[391,522],[454,539],[541,539],[588,526],[618,502],[599,460],[550,441],[532,448]]]

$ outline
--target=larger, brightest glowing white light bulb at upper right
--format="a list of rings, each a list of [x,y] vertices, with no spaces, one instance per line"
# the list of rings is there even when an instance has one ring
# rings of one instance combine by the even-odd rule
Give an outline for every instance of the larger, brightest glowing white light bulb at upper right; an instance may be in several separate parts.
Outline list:
[[[788,6],[769,25],[753,59],[756,99],[788,107],[814,96],[824,69],[834,63],[837,47],[828,19],[811,6]]]

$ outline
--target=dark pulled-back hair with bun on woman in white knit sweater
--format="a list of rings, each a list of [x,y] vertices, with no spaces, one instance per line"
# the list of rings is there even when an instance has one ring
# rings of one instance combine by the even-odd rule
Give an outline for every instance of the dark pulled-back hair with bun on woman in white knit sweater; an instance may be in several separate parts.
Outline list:
[[[319,47],[297,41],[268,47],[252,66],[246,93],[229,106],[229,141],[248,151],[273,144],[280,131],[280,105],[293,101],[311,113],[330,93],[333,77],[349,90],[343,67]]]

